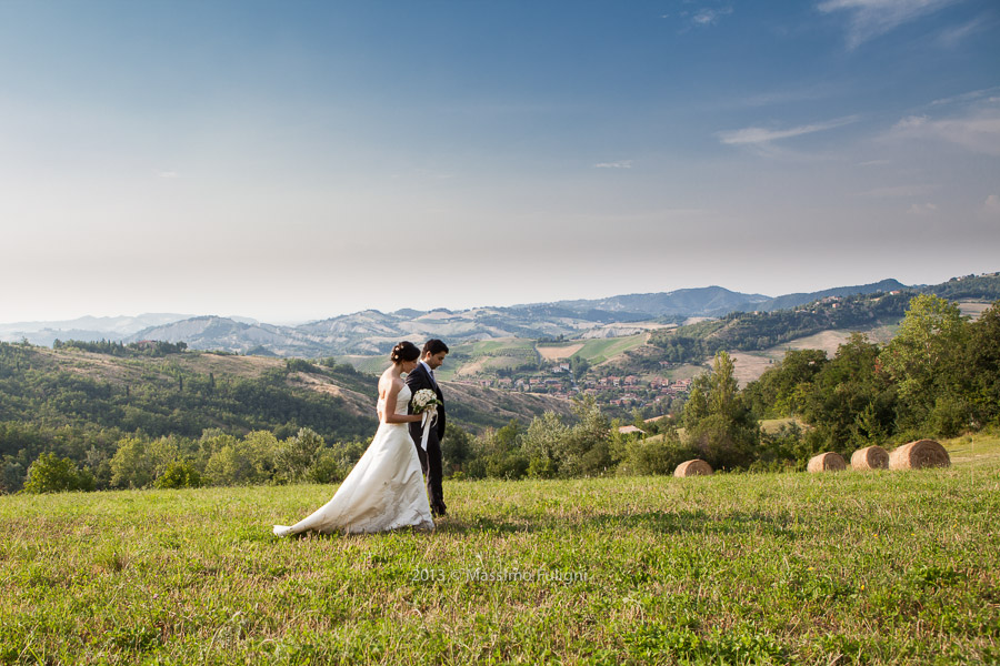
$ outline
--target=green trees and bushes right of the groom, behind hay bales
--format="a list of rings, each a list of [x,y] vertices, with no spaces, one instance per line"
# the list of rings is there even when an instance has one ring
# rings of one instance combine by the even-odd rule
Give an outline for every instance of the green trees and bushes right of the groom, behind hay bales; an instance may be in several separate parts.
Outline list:
[[[699,375],[683,410],[634,425],[653,436],[621,435],[590,397],[574,418],[553,413],[524,427],[511,422],[457,443],[446,437],[452,474],[470,478],[669,474],[700,457],[716,470],[802,470],[817,453],[844,456],[1000,427],[1000,301],[976,321],[943,299],[908,303],[893,340],[880,346],[860,333],[832,359],[792,351],[742,391],[726,351]],[[760,421],[792,417],[764,432]],[[798,425],[801,422],[804,426]]]

